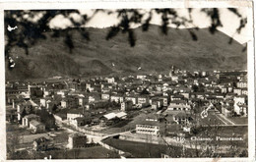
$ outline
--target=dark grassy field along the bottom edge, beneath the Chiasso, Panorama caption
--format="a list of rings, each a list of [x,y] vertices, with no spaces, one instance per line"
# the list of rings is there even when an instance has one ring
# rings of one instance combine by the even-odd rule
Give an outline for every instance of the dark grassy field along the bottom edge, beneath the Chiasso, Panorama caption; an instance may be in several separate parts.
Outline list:
[[[224,134],[228,134],[226,131]],[[113,146],[114,148],[120,149],[125,152],[129,152],[135,158],[160,158],[162,154],[168,154],[171,157],[237,157],[237,156],[247,156],[247,146],[246,144],[238,144],[235,149],[230,149],[231,144],[235,146],[237,143],[231,143],[228,141],[228,149],[223,147],[220,144],[217,148],[224,148],[224,152],[215,152],[211,153],[207,152],[206,149],[191,149],[191,148],[182,148],[173,145],[160,145],[146,142],[137,142],[137,141],[129,141],[122,140],[118,138],[107,138],[103,140],[104,143]],[[198,145],[202,145],[203,143],[197,143]],[[207,143],[204,143],[207,144]],[[208,143],[211,144],[211,143]],[[210,145],[208,145],[210,146]]]

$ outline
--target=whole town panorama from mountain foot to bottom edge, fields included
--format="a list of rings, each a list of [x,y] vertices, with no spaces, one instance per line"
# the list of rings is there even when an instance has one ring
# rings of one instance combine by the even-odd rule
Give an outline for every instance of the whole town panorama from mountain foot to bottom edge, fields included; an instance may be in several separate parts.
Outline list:
[[[138,69],[139,71],[139,69]],[[8,159],[246,157],[247,72],[6,81]]]

